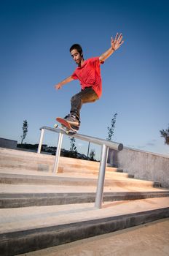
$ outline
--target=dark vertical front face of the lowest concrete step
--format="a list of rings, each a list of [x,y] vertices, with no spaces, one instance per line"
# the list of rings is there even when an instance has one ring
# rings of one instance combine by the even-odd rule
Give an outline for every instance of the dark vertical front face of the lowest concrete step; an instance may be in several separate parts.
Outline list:
[[[68,225],[55,225],[3,233],[0,235],[0,251],[1,255],[4,256],[18,255],[122,230],[127,227],[133,227],[167,217],[169,217],[168,207],[117,217],[74,222]]]

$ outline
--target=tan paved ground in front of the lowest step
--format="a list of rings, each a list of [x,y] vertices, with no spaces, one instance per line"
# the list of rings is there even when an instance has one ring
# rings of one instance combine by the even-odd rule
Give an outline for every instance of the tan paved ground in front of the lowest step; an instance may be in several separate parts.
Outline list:
[[[167,256],[169,255],[169,218],[23,255]]]

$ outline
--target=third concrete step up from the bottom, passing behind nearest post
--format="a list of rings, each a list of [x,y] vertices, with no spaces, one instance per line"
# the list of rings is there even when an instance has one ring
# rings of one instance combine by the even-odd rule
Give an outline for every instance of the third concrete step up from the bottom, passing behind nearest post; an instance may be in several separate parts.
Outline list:
[[[36,173],[36,172],[34,172]],[[18,174],[18,173],[0,173],[1,184],[39,184],[39,185],[71,185],[71,186],[97,186],[98,177],[76,176],[72,177],[66,173],[58,173],[43,175],[43,173],[37,174]],[[106,178],[104,186],[123,186],[123,187],[159,187],[159,183],[153,181],[142,181],[133,178],[126,177],[114,177]]]

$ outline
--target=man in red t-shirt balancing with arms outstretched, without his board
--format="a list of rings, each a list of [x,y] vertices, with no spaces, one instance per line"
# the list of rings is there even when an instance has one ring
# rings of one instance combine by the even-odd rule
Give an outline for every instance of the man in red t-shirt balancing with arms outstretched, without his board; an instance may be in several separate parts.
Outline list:
[[[78,130],[80,125],[80,109],[82,104],[88,102],[95,102],[101,97],[101,64],[114,53],[123,43],[122,34],[111,37],[111,47],[99,57],[84,60],[82,47],[74,44],[70,48],[70,53],[77,66],[74,73],[68,78],[62,80],[55,85],[55,89],[61,89],[63,85],[78,79],[82,90],[71,98],[71,111],[65,117],[66,121],[71,124],[71,127]]]

